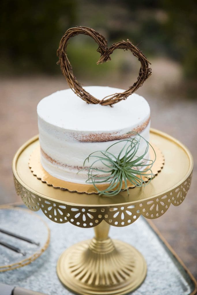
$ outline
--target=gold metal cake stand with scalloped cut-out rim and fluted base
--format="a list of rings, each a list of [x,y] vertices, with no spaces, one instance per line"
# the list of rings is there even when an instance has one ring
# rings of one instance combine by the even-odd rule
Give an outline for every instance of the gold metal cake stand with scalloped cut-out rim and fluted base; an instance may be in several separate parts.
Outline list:
[[[126,294],[146,277],[144,257],[131,245],[108,237],[110,225],[126,226],[140,215],[162,216],[172,203],[180,205],[188,192],[193,169],[190,151],[173,137],[151,129],[150,142],[162,151],[165,165],[145,188],[121,191],[113,197],[55,189],[33,176],[28,161],[39,145],[38,136],[14,156],[12,169],[17,194],[32,211],[41,209],[57,223],[94,227],[95,237],[68,248],[57,263],[61,282],[78,294]]]

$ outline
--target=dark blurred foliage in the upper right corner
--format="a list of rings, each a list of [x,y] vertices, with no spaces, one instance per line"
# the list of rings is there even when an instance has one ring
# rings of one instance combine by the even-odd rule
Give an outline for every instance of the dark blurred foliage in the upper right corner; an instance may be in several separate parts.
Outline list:
[[[197,2],[164,0],[168,19],[164,24],[168,54],[180,61],[185,76],[197,78]]]

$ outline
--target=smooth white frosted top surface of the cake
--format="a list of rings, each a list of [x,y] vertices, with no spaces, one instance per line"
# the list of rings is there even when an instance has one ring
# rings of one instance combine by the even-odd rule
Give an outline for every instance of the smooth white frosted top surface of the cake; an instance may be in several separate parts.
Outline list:
[[[98,99],[124,91],[104,86],[84,89]],[[45,122],[65,130],[105,132],[143,123],[150,116],[150,107],[144,97],[135,93],[110,107],[87,104],[71,89],[66,89],[43,98],[38,103],[37,113]]]

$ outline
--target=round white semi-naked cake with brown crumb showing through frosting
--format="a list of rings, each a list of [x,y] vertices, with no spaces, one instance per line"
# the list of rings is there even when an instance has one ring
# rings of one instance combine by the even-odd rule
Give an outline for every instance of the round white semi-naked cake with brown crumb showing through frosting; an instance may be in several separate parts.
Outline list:
[[[100,86],[84,89],[98,99],[123,92]],[[110,107],[87,104],[71,89],[66,89],[43,98],[37,112],[41,164],[49,174],[64,181],[85,184],[93,161],[86,162],[84,167],[88,155],[131,137],[128,132],[138,132],[149,141],[150,107],[135,93]],[[145,148],[146,143],[142,142],[136,156]],[[120,146],[114,145],[113,155],[117,156],[119,152]],[[81,171],[83,168],[87,170]],[[105,169],[102,163],[97,168]]]

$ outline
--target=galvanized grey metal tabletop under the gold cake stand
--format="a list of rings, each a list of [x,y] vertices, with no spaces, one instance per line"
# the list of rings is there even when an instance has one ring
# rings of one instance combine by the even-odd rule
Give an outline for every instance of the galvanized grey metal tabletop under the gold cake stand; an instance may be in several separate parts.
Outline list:
[[[24,206],[23,206],[24,207]],[[12,271],[0,273],[0,282],[17,285],[48,295],[69,295],[71,291],[65,289],[56,274],[56,264],[59,255],[76,242],[92,237],[92,229],[82,229],[70,223],[57,224],[39,214],[51,229],[51,241],[45,252],[31,264]],[[121,229],[112,227],[110,234],[115,239],[134,245],[144,256],[147,263],[147,276],[144,283],[133,295],[194,295],[197,294],[196,281],[169,248],[163,237],[155,231],[144,217],[132,227]]]

